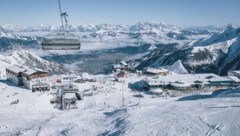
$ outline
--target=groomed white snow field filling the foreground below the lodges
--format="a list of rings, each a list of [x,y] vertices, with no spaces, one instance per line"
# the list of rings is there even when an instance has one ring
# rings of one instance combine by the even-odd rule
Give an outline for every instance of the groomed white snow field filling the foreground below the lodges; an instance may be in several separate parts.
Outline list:
[[[21,136],[238,136],[240,89],[177,98],[143,98],[124,83],[110,79],[79,83],[80,89],[97,86],[93,96],[78,101],[78,109],[50,104],[54,90],[32,93],[0,80],[0,135]],[[136,80],[136,79],[135,79]]]

